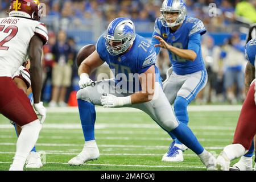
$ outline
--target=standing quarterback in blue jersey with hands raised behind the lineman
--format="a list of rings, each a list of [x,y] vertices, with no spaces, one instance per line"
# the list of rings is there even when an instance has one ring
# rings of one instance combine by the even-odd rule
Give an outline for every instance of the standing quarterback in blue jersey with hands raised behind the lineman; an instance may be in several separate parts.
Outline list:
[[[161,16],[155,20],[152,44],[158,54],[167,49],[172,67],[167,71],[163,91],[168,101],[174,104],[177,119],[188,125],[187,106],[207,84],[207,71],[201,55],[201,35],[206,30],[200,19],[187,16],[187,7],[182,0],[165,0]],[[187,148],[175,135],[169,151],[163,156],[166,162],[183,162]]]

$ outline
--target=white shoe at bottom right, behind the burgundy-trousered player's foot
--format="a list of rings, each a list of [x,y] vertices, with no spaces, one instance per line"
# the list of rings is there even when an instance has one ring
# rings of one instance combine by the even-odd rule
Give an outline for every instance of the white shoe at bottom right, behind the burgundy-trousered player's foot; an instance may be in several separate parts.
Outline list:
[[[236,164],[229,168],[229,171],[253,171],[253,157],[242,156]]]

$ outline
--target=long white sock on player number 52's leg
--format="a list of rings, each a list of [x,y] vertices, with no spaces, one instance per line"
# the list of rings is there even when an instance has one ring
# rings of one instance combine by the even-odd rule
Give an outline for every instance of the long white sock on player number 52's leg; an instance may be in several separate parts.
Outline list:
[[[35,146],[36,140],[38,140],[41,129],[42,125],[38,119],[22,126],[22,131],[16,144],[13,166],[23,168],[31,148]]]

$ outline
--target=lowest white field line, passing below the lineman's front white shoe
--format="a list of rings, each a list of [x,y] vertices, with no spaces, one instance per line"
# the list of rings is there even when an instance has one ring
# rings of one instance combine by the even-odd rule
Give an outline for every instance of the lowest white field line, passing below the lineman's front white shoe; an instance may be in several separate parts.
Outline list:
[[[0,163],[11,163],[11,162],[0,162]],[[49,162],[46,164],[68,164],[68,163],[53,163]],[[45,165],[46,165],[45,164]],[[125,165],[125,164],[82,164],[83,166],[122,166],[122,167],[148,167],[148,168],[204,168],[200,166],[146,166],[146,165]]]

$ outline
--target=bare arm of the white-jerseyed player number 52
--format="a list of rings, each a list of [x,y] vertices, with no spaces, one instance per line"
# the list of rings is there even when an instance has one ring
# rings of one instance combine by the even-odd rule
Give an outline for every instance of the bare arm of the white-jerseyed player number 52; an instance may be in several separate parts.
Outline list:
[[[34,96],[34,103],[40,102],[42,83],[43,83],[43,68],[41,63],[43,42],[39,36],[34,35],[30,40],[29,59],[30,59],[30,74],[31,88]]]

